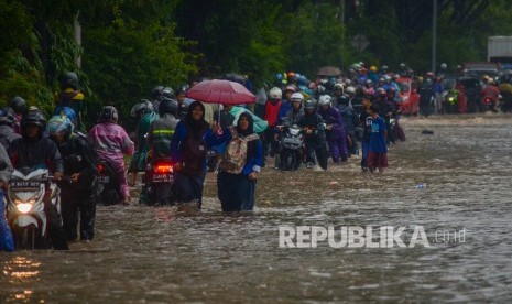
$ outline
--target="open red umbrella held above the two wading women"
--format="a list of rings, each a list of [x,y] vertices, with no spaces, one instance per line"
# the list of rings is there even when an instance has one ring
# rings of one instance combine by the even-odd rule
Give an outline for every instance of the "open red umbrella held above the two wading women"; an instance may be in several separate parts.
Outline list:
[[[204,80],[193,86],[186,97],[206,104],[253,104],[255,96],[244,86],[230,80]]]

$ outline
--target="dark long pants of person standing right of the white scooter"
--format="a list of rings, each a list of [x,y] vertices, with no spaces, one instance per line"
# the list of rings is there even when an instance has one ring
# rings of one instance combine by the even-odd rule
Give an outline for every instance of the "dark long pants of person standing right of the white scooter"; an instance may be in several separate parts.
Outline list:
[[[90,191],[61,189],[61,209],[63,228],[68,241],[77,239],[78,216],[80,221],[80,240],[95,237],[96,202]]]

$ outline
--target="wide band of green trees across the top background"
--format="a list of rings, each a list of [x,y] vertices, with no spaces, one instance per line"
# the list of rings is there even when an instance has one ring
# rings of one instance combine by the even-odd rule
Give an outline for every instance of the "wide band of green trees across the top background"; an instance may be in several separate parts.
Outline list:
[[[392,69],[401,62],[431,68],[432,0],[358,3],[0,0],[0,102],[20,95],[50,113],[58,75],[74,70],[90,124],[105,104],[126,117],[153,86],[176,88],[194,76],[247,74],[261,86],[276,72],[314,76],[319,66],[361,59]],[[484,61],[488,36],[512,35],[506,0],[437,3],[436,66]],[[74,42],[77,17],[84,48]],[[360,54],[351,46],[357,34],[370,42]],[[75,67],[78,56],[83,69]]]

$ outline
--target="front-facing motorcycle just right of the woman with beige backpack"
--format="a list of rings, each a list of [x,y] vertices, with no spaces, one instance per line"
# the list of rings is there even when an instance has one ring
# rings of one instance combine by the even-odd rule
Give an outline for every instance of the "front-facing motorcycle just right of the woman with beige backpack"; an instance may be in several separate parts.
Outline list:
[[[285,127],[280,138],[280,161],[277,169],[283,171],[295,171],[301,166],[304,150],[302,129],[296,124]]]

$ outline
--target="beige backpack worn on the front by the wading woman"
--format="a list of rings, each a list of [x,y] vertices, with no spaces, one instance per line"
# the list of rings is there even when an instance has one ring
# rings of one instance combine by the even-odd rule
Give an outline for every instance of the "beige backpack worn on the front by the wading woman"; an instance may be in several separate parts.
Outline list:
[[[226,146],[226,152],[220,162],[220,170],[224,172],[240,174],[247,163],[247,150],[249,142],[258,140],[257,133],[252,133],[246,138],[238,135],[235,127],[229,127],[231,132],[231,141]]]

